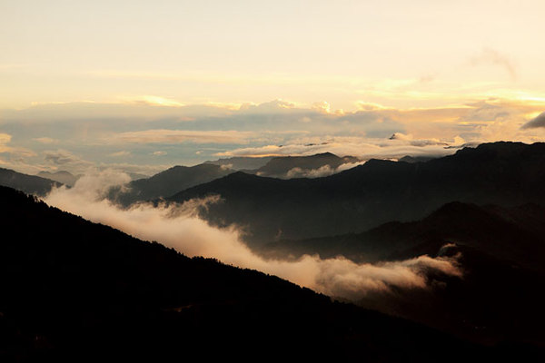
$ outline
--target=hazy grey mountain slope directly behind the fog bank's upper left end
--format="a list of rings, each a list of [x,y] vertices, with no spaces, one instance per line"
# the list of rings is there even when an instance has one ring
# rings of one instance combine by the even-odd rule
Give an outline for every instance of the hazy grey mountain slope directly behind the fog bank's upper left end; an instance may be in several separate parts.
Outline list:
[[[168,197],[178,191],[228,175],[233,171],[213,164],[174,166],[147,179],[129,182],[124,187],[114,187],[109,198],[122,205],[135,201],[150,201]]]

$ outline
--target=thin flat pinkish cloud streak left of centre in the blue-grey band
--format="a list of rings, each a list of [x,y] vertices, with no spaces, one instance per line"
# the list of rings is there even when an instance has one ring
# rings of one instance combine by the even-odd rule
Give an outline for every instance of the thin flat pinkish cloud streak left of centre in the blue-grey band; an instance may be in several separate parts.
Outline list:
[[[108,137],[110,142],[131,143],[247,143],[253,132],[241,131],[193,131],[193,130],[145,130],[121,132]]]

